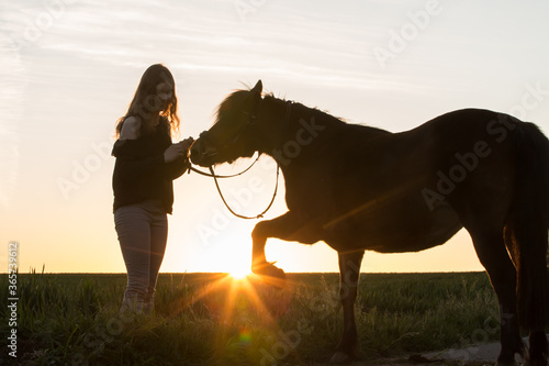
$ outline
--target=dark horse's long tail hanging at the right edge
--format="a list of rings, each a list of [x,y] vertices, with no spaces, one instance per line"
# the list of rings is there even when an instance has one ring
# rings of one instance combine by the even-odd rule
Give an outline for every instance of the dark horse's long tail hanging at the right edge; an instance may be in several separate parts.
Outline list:
[[[518,318],[544,329],[548,303],[549,140],[533,123],[516,121],[516,186],[505,244],[517,269]]]

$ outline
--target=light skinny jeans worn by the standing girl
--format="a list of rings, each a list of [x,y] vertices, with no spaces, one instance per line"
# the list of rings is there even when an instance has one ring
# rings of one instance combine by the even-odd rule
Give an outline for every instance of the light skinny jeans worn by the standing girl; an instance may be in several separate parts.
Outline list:
[[[150,313],[168,239],[167,214],[159,202],[149,200],[119,208],[114,224],[127,270],[120,310]]]

